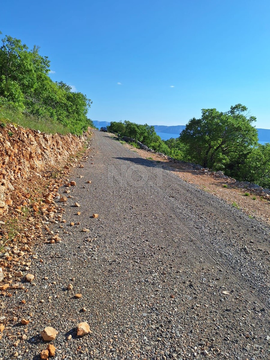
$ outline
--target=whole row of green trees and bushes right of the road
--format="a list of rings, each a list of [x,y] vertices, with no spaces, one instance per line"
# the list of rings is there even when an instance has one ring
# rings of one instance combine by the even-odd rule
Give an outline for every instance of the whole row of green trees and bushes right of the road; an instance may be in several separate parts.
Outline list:
[[[111,122],[109,131],[141,141],[175,159],[223,170],[238,180],[247,180],[270,188],[270,144],[258,144],[258,134],[247,107],[237,104],[227,112],[202,109],[179,138],[163,141],[153,126],[130,121]]]

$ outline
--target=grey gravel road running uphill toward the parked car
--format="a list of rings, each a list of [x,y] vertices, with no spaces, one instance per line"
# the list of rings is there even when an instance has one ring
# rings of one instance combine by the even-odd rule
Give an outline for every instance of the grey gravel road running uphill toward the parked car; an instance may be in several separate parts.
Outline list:
[[[51,227],[62,242],[36,246],[36,285],[10,300],[31,319],[27,340],[3,337],[0,359],[39,359],[45,326],[59,331],[58,360],[270,359],[269,227],[106,133],[91,149],[70,177],[67,222]],[[77,337],[80,321],[93,333]]]

